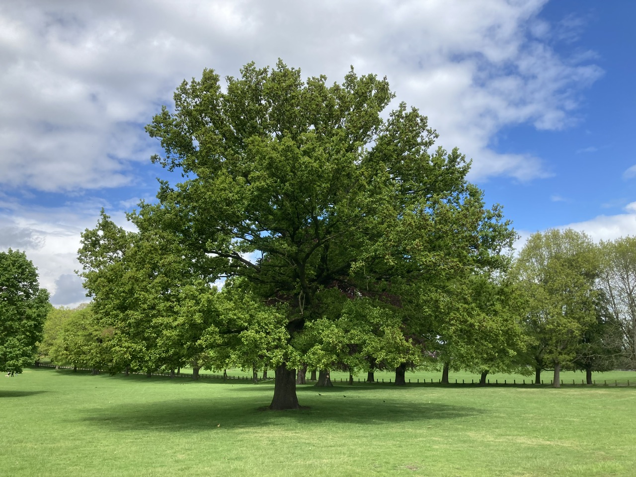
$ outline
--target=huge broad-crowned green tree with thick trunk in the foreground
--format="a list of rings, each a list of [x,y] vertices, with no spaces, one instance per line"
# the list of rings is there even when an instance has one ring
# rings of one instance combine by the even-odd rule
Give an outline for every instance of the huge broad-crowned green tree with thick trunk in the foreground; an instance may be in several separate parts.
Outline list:
[[[298,408],[296,366],[411,361],[422,340],[406,331],[419,316],[404,314],[409,286],[496,267],[514,237],[467,183],[466,158],[433,149],[425,116],[403,103],[383,113],[393,98],[386,79],[353,69],[328,86],[252,63],[225,89],[209,69],[184,81],[146,127],[165,151],[153,162],[184,180],[161,181],[131,219],[170,237],[200,280],[175,307],[207,324],[209,359],[275,368],[273,410]],[[86,253],[97,280],[103,264]]]

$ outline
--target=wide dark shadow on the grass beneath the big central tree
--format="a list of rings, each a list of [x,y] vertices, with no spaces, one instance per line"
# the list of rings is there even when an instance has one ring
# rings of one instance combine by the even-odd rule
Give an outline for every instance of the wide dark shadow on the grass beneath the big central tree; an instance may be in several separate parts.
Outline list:
[[[325,399],[321,399],[325,397]],[[303,406],[295,411],[263,411],[260,399],[234,399],[232,402],[212,399],[178,399],[130,406],[104,406],[86,410],[83,422],[108,427],[114,431],[147,429],[158,432],[212,431],[240,429],[265,425],[356,424],[385,425],[470,417],[483,410],[470,406],[442,403],[413,403],[386,396],[385,399],[347,399],[341,394],[301,399]],[[74,419],[73,419],[74,420]],[[220,426],[219,426],[220,424]]]

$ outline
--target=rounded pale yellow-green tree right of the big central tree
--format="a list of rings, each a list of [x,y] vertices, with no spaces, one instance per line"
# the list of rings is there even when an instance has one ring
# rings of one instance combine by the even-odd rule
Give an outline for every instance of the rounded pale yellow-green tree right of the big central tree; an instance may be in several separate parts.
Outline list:
[[[537,370],[572,366],[585,333],[597,322],[598,251],[590,238],[571,229],[530,236],[515,271],[528,300],[527,330]],[[538,378],[538,371],[537,371]]]

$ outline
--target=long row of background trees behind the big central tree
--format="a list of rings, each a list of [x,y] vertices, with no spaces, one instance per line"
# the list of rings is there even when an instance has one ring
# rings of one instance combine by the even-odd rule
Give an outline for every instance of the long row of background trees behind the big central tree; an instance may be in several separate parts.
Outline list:
[[[102,216],[97,230],[102,239],[107,235],[99,230],[139,238],[114,226],[107,216]],[[585,371],[591,384],[592,371],[634,368],[635,251],[633,237],[596,245],[573,230],[537,233],[505,278],[503,273],[497,279],[473,275],[461,286],[438,290],[437,301],[425,300],[436,310],[437,320],[420,323],[417,336],[404,336],[404,323],[392,323],[396,314],[390,307],[373,306],[367,297],[338,290],[334,301],[345,297],[339,315],[316,320],[296,343],[296,380],[303,382],[308,366],[345,370],[351,376],[364,371],[368,380],[373,380],[373,371],[391,368],[396,369],[399,383],[406,368],[426,366],[443,368],[446,382],[449,370],[481,373],[483,382],[489,372],[510,371],[534,372],[536,382],[541,382],[541,371],[552,370],[558,385],[559,372],[565,368]],[[183,278],[183,274],[179,276]],[[114,286],[121,284],[134,284],[137,295],[148,286],[138,279]],[[127,300],[131,291],[127,288],[122,294],[109,289],[109,302],[112,304],[113,296]],[[248,296],[247,287],[237,280],[220,292],[202,287],[188,293],[188,301],[183,293],[172,296],[169,307],[162,305],[165,297],[160,294],[155,294],[154,304],[146,296],[144,315],[137,317],[136,324],[130,321],[127,301],[115,312],[117,322],[111,320],[113,326],[106,327],[92,305],[74,310],[53,308],[39,353],[56,363],[89,367],[94,372],[194,366],[196,376],[201,367],[240,366],[256,374],[273,366],[272,357],[284,343],[274,335],[280,334],[284,321],[280,317],[277,321],[270,306]],[[200,312],[204,302],[208,313],[214,309],[212,317],[191,313],[195,308]],[[120,314],[127,307],[129,313]],[[148,311],[152,308],[156,310],[153,314]],[[229,333],[232,340],[218,336],[211,340],[218,331],[209,328],[219,319],[242,331]],[[144,338],[115,333],[122,326],[130,331],[132,326],[141,326],[146,329]],[[327,377],[323,375],[324,384]]]

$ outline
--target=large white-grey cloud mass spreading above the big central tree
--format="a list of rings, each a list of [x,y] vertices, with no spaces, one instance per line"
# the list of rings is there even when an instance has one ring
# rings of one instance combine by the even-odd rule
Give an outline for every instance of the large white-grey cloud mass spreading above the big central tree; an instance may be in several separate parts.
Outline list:
[[[4,2],[0,183],[47,191],[130,184],[131,163],[155,147],[142,125],[181,79],[204,67],[235,75],[249,60],[277,57],[333,81],[350,64],[387,74],[399,100],[429,115],[442,144],[473,158],[473,179],[541,177],[539,158],[498,154],[492,136],[518,123],[567,127],[577,94],[602,73],[556,55],[558,35],[537,18],[543,3]],[[557,30],[580,23],[566,19]]]

